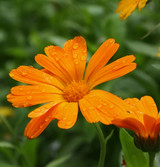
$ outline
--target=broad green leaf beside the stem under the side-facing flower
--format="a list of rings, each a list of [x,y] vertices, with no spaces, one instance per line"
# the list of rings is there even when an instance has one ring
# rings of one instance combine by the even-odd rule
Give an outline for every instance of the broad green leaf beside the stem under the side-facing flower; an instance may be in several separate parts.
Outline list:
[[[148,167],[147,153],[135,146],[133,138],[125,129],[120,130],[120,141],[127,167]]]

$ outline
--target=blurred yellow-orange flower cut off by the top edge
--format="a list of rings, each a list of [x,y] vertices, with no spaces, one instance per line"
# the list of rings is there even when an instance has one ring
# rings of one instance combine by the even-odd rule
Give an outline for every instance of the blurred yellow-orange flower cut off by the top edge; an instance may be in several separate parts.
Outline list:
[[[126,19],[137,7],[139,11],[146,5],[147,0],[121,0],[116,9],[120,12],[120,19]]]

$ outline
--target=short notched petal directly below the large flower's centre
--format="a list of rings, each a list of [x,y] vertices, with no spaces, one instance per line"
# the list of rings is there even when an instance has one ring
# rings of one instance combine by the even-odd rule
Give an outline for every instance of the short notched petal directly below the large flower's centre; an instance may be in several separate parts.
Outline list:
[[[54,108],[52,117],[58,119],[58,127],[71,128],[77,121],[78,103],[63,102]]]

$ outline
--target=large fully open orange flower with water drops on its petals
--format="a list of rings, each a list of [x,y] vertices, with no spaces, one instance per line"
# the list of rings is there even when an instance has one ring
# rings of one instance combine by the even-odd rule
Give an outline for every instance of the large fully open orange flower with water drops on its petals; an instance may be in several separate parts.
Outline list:
[[[15,107],[28,107],[46,103],[29,113],[32,118],[25,129],[25,136],[35,138],[58,119],[60,128],[71,128],[78,116],[78,106],[90,123],[110,124],[109,116],[124,112],[123,100],[103,90],[92,90],[95,86],[123,76],[136,68],[133,55],[125,56],[105,66],[119,45],[114,39],[105,41],[88,63],[87,47],[83,37],[75,37],[65,43],[64,49],[48,46],[45,53],[35,57],[42,70],[31,66],[20,66],[10,76],[30,85],[16,86],[7,96]],[[84,77],[83,77],[84,75]],[[107,117],[107,116],[108,117]]]

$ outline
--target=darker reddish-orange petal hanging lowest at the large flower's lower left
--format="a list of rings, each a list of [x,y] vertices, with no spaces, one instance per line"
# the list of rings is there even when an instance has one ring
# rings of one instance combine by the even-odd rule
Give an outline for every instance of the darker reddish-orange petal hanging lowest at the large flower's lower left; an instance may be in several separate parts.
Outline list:
[[[52,121],[51,113],[52,109],[40,117],[31,119],[25,128],[24,136],[28,139],[33,139],[39,136]]]

